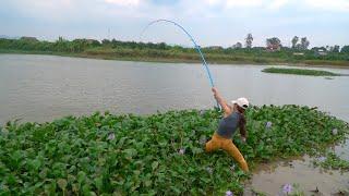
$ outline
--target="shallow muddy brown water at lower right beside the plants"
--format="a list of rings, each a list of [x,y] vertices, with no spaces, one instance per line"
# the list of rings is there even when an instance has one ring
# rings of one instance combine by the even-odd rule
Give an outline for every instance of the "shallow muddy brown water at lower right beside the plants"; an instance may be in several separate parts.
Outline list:
[[[299,184],[299,189],[306,195],[315,194],[316,187],[320,195],[334,195],[349,189],[349,172],[313,168],[311,160],[304,156],[299,160],[261,166],[249,186],[267,195],[277,195],[285,184],[293,183]]]

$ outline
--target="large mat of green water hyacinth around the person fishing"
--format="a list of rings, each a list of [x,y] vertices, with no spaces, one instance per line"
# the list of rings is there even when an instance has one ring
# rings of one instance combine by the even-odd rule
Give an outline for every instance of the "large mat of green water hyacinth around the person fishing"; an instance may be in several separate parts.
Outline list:
[[[0,195],[240,194],[249,174],[226,152],[203,148],[220,118],[185,110],[9,122],[0,127]],[[252,107],[246,118],[246,143],[233,142],[251,168],[315,152],[348,133],[346,122],[308,107]]]

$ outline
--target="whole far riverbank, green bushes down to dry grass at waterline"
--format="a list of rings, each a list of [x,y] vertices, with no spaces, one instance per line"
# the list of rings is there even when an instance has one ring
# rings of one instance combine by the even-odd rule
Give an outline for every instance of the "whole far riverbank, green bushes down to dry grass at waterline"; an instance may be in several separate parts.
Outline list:
[[[264,47],[254,48],[202,48],[210,64],[291,64],[291,65],[327,65],[349,68],[349,52],[318,54],[317,49],[297,50],[282,47],[278,51],[268,51]],[[135,42],[93,39],[56,41],[35,38],[1,39],[0,52],[43,53],[96,59],[156,61],[156,62],[201,62],[194,48],[169,46],[165,42]]]

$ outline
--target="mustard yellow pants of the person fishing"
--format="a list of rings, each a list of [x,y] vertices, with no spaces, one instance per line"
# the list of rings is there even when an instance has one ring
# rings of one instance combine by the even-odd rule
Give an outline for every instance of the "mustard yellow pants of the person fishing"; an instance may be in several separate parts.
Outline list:
[[[217,133],[214,134],[212,139],[206,143],[206,152],[210,152],[217,149],[224,149],[226,150],[231,157],[238,161],[240,164],[240,168],[248,172],[249,171],[249,166],[246,161],[244,160],[243,156],[239,151],[239,149],[236,147],[236,145],[232,143],[231,139],[221,137]]]

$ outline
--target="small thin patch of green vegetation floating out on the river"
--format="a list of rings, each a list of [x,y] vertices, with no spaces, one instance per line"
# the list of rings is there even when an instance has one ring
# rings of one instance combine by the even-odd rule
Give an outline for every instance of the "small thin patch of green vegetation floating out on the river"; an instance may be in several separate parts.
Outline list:
[[[284,69],[284,68],[267,68],[262,70],[265,73],[280,73],[294,75],[314,75],[314,76],[339,76],[340,74],[322,71],[322,70],[306,70],[306,69]]]

